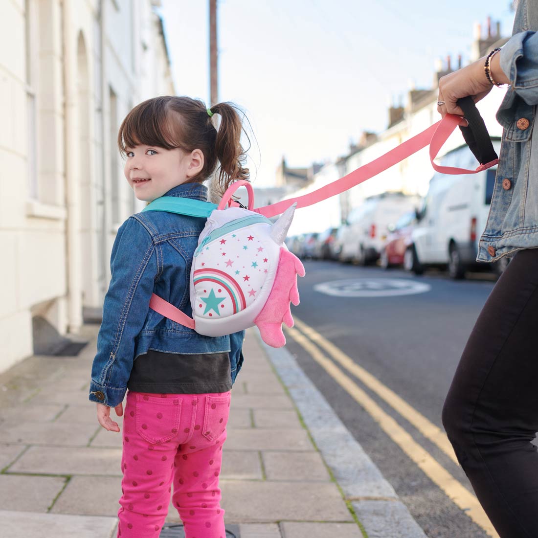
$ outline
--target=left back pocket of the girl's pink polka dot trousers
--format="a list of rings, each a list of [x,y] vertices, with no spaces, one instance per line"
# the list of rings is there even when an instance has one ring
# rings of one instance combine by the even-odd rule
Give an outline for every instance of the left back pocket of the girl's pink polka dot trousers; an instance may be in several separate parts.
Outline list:
[[[136,395],[136,431],[151,444],[166,443],[178,435],[181,398]]]

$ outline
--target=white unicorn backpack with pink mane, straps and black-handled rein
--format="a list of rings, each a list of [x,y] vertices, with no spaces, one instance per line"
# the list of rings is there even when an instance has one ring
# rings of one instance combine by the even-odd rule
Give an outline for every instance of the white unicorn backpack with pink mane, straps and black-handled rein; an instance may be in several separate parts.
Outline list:
[[[297,275],[305,275],[301,261],[284,244],[295,208],[343,193],[426,146],[429,146],[431,166],[443,174],[475,174],[496,165],[499,159],[475,102],[465,97],[457,104],[469,123],[468,127],[460,127],[463,137],[480,163],[475,170],[435,164],[437,153],[462,119],[447,114],[381,157],[294,200],[282,200],[254,210],[254,192],[250,182],[244,180],[232,183],[218,207],[173,196],[154,200],[144,211],[172,211],[208,219],[190,271],[193,317],[155,294],[150,308],[202,335],[224,336],[257,325],[265,343],[274,348],[285,345],[282,323],[293,327],[290,302],[299,304]],[[249,192],[248,208],[231,202],[232,194],[242,185]],[[231,207],[225,209],[226,204]],[[274,224],[268,219],[280,214]]]

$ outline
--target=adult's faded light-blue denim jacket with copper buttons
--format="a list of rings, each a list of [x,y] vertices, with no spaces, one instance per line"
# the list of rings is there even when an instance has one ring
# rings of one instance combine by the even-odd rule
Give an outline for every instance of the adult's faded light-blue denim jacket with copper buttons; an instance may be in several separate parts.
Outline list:
[[[513,35],[499,53],[511,86],[497,112],[504,130],[478,261],[538,247],[538,136],[532,136],[538,104],[537,30],[536,1],[520,0]]]

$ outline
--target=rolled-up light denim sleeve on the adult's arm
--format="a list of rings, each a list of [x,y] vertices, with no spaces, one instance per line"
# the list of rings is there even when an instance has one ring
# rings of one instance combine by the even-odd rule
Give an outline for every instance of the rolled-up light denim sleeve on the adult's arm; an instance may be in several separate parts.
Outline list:
[[[500,67],[513,91],[527,104],[538,104],[538,33],[514,34],[499,54]]]

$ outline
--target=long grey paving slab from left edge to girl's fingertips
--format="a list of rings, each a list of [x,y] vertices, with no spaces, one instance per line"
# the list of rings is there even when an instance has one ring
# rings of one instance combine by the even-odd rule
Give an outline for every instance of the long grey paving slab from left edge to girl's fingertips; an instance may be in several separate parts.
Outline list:
[[[95,424],[55,422],[2,422],[0,438],[6,443],[41,444],[58,447],[85,447],[95,435]]]

